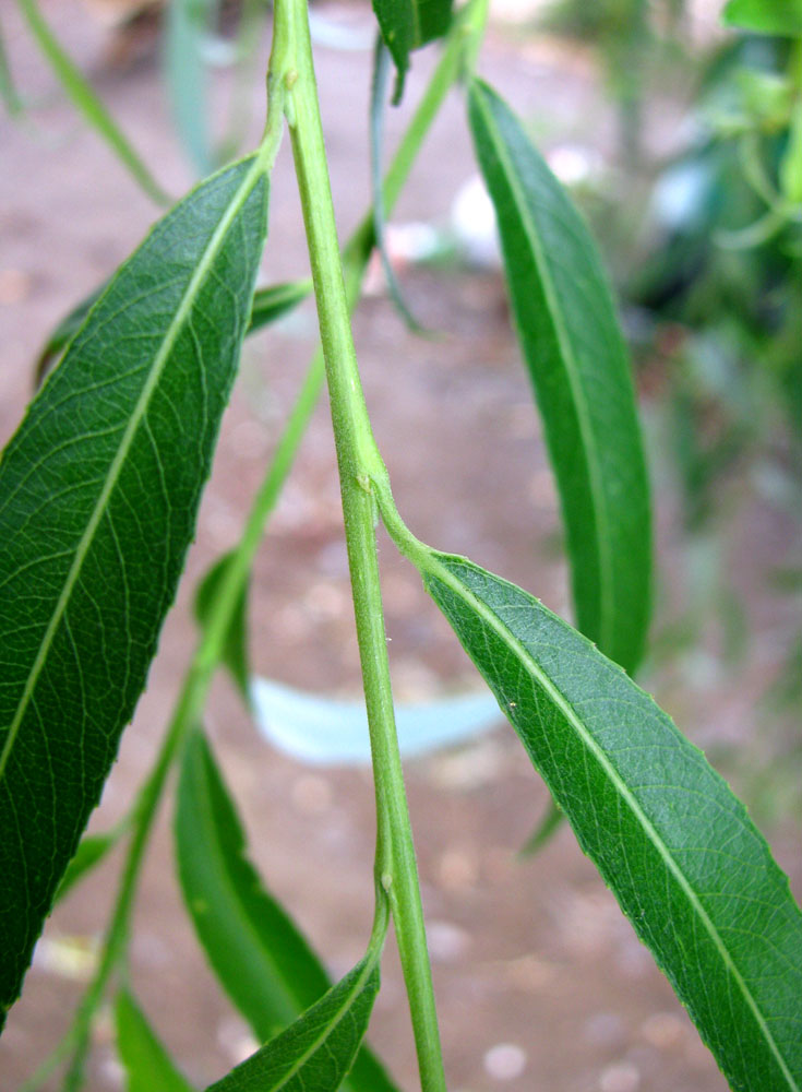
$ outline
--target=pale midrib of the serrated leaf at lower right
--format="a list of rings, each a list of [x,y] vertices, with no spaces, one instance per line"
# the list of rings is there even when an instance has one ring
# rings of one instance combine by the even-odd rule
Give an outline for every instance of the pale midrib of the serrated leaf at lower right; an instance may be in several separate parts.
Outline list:
[[[713,943],[716,950],[718,951],[722,963],[732,975],[735,984],[738,985],[738,987],[741,990],[741,994],[744,997],[744,1000],[746,1001],[746,1005],[752,1011],[752,1014],[755,1018],[757,1026],[763,1033],[763,1036],[766,1040],[766,1043],[768,1044],[783,1077],[788,1081],[789,1089],[793,1090],[793,1092],[802,1092],[802,1090],[800,1090],[800,1085],[798,1084],[793,1075],[788,1068],[788,1065],[782,1054],[780,1053],[780,1049],[775,1041],[775,1037],[768,1028],[766,1019],[764,1018],[759,1009],[759,1006],[757,1005],[757,1001],[755,1000],[752,994],[752,990],[746,985],[743,975],[741,974],[734,961],[732,960],[732,957],[730,956],[727,946],[721,939],[718,929],[710,921],[707,911],[702,905],[698,895],[691,887],[691,883],[686,879],[682,868],[674,860],[668,845],[657,831],[651,820],[645,814],[638,800],[632,794],[632,792],[630,791],[629,786],[619,774],[615,767],[612,764],[612,762],[607,757],[600,745],[592,737],[592,735],[588,732],[587,728],[585,728],[582,717],[574,710],[568,699],[565,698],[562,691],[558,689],[558,687],[551,681],[548,675],[546,675],[541,670],[540,666],[538,665],[537,661],[532,657],[531,653],[518,640],[518,638],[516,638],[512,633],[510,628],[501,620],[501,618],[495,614],[495,612],[492,610],[488,606],[488,604],[486,604],[482,600],[480,600],[474,592],[471,592],[470,589],[468,589],[467,585],[464,584],[457,577],[455,577],[451,572],[451,570],[436,558],[436,556],[434,556],[433,554],[428,554],[426,557],[421,555],[420,561],[424,566],[424,571],[427,572],[427,574],[433,575],[435,579],[440,580],[453,592],[455,592],[460,598],[463,598],[470,606],[470,608],[481,618],[481,620],[487,626],[489,626],[507,645],[507,648],[523,662],[524,666],[537,679],[537,681],[543,688],[543,690],[546,690],[550,699],[563,713],[567,722],[573,726],[574,731],[576,732],[578,737],[583,740],[587,749],[594,755],[596,760],[601,765],[602,770],[607,773],[613,788],[619,793],[623,802],[629,805],[635,819],[641,823],[644,833],[648,836],[648,840],[651,842],[655,850],[662,858],[667,869],[672,874],[674,879],[678,881],[681,890],[687,898],[687,901],[691,904],[692,910],[694,910],[694,912],[698,915],[698,918],[702,922],[702,925],[705,927],[708,936],[713,940]],[[501,580],[501,578],[496,577],[494,579],[498,580],[498,582],[501,584],[507,583],[506,581]]]

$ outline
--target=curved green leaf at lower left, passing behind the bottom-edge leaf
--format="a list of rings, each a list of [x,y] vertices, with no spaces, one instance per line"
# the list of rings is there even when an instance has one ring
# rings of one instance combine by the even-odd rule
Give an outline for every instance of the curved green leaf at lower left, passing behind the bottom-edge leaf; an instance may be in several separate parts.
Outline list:
[[[181,891],[210,963],[256,1037],[267,1040],[320,1000],[331,982],[248,860],[234,803],[200,733],[184,752],[176,847]],[[394,1092],[367,1048],[348,1087]]]

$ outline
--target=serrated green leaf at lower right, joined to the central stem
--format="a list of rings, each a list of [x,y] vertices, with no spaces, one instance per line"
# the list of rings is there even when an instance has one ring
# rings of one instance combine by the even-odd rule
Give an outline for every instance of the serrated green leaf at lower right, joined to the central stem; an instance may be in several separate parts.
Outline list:
[[[464,558],[426,586],[733,1089],[802,1089],[802,913],[743,805],[653,699]]]

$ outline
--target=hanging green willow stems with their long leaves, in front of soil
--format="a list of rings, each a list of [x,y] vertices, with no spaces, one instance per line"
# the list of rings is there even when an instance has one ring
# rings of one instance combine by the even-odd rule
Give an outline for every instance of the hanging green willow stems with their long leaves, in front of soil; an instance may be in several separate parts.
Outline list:
[[[34,0],[17,2],[76,106],[132,175],[160,197]],[[731,0],[727,17],[802,37],[798,8]],[[247,20],[259,13],[253,4],[243,12],[246,40]],[[188,41],[214,13],[211,3],[173,0],[176,66],[194,63]],[[378,55],[385,47],[392,55],[396,98],[410,51],[434,38],[443,39],[443,51],[378,187],[375,211],[344,251],[334,226],[306,4],[276,0],[267,119],[258,150],[179,201],[109,283],[62,321],[41,370],[61,358],[0,462],[3,1016],[19,996],[55,900],[111,846],[125,844],[98,969],[64,1041],[28,1088],[61,1064],[64,1088],[80,1088],[93,1018],[107,995],[115,997],[129,1088],[190,1088],[122,973],[154,819],[167,775],[179,767],[176,852],[188,911],[222,986],[264,1044],[207,1092],[391,1092],[392,1079],[362,1045],[391,919],[421,1089],[445,1089],[390,687],[379,519],[419,571],[731,1087],[799,1092],[802,913],[744,807],[632,679],[650,614],[650,500],[629,360],[596,247],[514,112],[476,75],[482,0],[470,0],[457,14],[447,0],[381,0],[376,15],[385,44]],[[216,156],[203,116],[201,128],[195,116],[190,123],[187,102],[180,102],[185,93],[195,95],[200,75],[199,69],[179,72],[173,86],[188,146],[205,170]],[[349,312],[370,252],[381,242],[382,212],[392,207],[456,82],[465,87],[467,123],[495,206],[522,355],[554,468],[577,629],[522,589],[414,536],[393,500],[361,393]],[[374,96],[374,109],[381,105]],[[255,290],[271,171],[285,128],[322,351],[239,545],[201,585],[201,636],[157,760],[127,819],[82,840],[175,596],[242,341],[310,290],[307,282]],[[792,134],[782,169],[786,218],[798,214],[799,146]],[[363,959],[334,985],[249,862],[235,804],[202,729],[219,665],[248,697],[249,572],[324,379],[376,791],[373,928]]]

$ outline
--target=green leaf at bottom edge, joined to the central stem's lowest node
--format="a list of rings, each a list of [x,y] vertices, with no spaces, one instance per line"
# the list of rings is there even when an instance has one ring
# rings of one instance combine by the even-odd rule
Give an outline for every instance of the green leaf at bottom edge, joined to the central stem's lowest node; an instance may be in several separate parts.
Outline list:
[[[366,957],[295,1023],[206,1092],[336,1092],[368,1028],[379,992]]]

